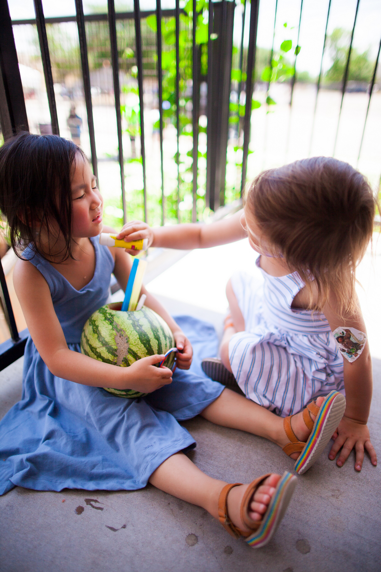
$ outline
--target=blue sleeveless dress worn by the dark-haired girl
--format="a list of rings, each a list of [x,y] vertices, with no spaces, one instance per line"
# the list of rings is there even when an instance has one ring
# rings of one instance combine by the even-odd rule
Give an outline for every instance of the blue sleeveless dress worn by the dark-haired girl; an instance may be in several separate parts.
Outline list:
[[[85,321],[107,301],[114,269],[109,249],[98,237],[90,240],[95,272],[79,291],[43,257],[25,251],[45,277],[67,344],[77,352]],[[200,368],[202,358],[215,355],[218,340],[209,324],[189,316],[177,321],[193,345],[191,369],[176,370],[169,386],[137,400],[54,376],[29,337],[22,399],[0,422],[0,495],[16,485],[134,490],[169,456],[194,448],[178,421],[198,415],[223,391]]]

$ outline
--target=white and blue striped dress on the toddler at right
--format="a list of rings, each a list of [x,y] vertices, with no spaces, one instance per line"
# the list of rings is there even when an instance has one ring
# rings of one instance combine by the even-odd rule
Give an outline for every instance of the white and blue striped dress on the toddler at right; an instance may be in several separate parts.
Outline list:
[[[286,417],[311,399],[344,393],[343,357],[323,314],[291,308],[303,288],[298,273],[231,278],[245,323],[229,343],[232,372],[247,398]]]

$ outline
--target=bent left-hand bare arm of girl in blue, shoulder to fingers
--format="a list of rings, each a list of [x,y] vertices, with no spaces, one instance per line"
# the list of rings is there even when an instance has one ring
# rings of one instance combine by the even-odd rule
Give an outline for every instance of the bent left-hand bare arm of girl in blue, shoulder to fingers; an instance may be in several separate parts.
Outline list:
[[[49,286],[41,272],[30,262],[19,260],[14,268],[13,280],[29,333],[52,374],[86,386],[131,389],[143,393],[171,383],[172,372],[169,368],[154,367],[155,363],[161,362],[163,355],[143,358],[130,367],[118,367],[71,351],[54,311]]]

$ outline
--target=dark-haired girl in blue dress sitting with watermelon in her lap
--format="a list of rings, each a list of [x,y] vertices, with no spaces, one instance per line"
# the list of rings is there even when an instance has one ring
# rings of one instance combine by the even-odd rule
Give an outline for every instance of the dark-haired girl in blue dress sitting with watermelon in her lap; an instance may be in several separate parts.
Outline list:
[[[135,490],[150,482],[202,506],[249,545],[266,544],[296,478],[286,472],[228,484],[184,454],[195,442],[178,422],[198,414],[273,435],[256,420],[254,403],[208,379],[197,364],[186,371],[190,341],[161,304],[143,287],[145,305],[173,332],[174,374],[155,367],[163,355],[118,367],[80,351],[83,325],[107,302],[111,272],[125,289],[131,268],[125,251],[99,245],[103,200],[81,149],[56,136],[22,133],[7,141],[0,148],[0,209],[20,258],[14,285],[30,332],[22,399],[0,423],[0,494],[16,485]],[[208,335],[194,321],[192,336],[204,352],[199,359],[211,351]],[[121,399],[103,387],[149,395]]]

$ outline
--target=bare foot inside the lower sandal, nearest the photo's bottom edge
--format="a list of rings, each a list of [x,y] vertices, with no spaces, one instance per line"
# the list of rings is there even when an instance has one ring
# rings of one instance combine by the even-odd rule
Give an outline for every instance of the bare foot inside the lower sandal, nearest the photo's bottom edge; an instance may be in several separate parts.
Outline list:
[[[279,479],[280,475],[272,473],[267,477],[264,483],[256,489],[254,495],[252,495],[248,507],[248,516],[253,521],[260,521],[264,513],[266,513],[267,507],[270,504],[271,497],[274,494],[275,487],[278,484]],[[248,484],[241,484],[238,487],[231,488],[227,495],[227,514],[235,526],[237,526],[240,530],[249,533],[250,530],[240,518],[240,506],[247,487]]]

